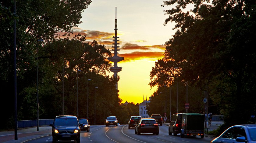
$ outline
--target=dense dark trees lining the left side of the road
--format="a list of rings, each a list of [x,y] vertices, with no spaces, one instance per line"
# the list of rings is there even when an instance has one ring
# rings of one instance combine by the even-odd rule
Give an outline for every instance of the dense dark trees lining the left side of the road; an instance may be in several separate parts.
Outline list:
[[[14,2],[0,1],[0,128],[14,127],[14,19],[18,120],[37,118],[37,48],[39,119],[77,115],[77,94],[79,118],[87,118],[88,103],[89,121],[94,124],[96,102],[97,124],[104,124],[110,115],[123,119],[119,112],[122,100],[115,87],[119,78],[106,75],[111,52],[97,41],[87,43],[80,34],[69,38],[91,0],[17,0],[16,15]]]

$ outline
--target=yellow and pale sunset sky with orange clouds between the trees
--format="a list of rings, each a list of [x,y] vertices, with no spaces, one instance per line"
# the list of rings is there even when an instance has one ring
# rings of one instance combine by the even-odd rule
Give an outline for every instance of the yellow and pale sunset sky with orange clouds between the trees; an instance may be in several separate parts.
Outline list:
[[[124,57],[118,66],[119,97],[124,103],[143,102],[143,95],[148,97],[157,87],[149,87],[150,71],[155,61],[163,57],[166,41],[174,34],[174,24],[163,23],[168,15],[161,7],[162,0],[93,0],[82,13],[83,22],[74,27],[74,32],[86,35],[86,41],[98,41],[106,48],[111,48],[114,36],[115,12],[117,7],[117,35],[120,37],[118,56]],[[112,63],[112,62],[111,62]],[[114,65],[112,63],[112,65]],[[108,73],[113,75],[112,72]],[[100,88],[100,87],[99,87]]]

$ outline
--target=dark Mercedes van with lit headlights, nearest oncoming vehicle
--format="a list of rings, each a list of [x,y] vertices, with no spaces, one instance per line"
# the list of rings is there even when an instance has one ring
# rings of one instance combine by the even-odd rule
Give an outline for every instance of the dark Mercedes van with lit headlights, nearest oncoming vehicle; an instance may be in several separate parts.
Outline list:
[[[76,116],[62,115],[56,116],[52,127],[52,142],[72,141],[80,143],[80,128],[82,123],[78,123]]]

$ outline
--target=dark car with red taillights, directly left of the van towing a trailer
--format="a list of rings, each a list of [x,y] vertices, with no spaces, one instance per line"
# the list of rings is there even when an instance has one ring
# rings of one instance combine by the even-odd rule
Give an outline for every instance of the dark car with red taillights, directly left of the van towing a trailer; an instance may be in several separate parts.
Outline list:
[[[140,121],[136,123],[135,134],[153,133],[153,135],[159,135],[159,126],[154,118],[141,118]]]

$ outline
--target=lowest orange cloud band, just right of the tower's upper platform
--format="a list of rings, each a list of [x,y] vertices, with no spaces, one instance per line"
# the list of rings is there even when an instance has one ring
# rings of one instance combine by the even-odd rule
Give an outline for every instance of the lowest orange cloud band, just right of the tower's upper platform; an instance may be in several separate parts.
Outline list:
[[[124,57],[124,60],[121,62],[130,62],[134,60],[140,60],[144,58],[151,58],[154,60],[160,59],[163,57],[164,52],[132,52],[127,54],[119,54],[118,56]]]

